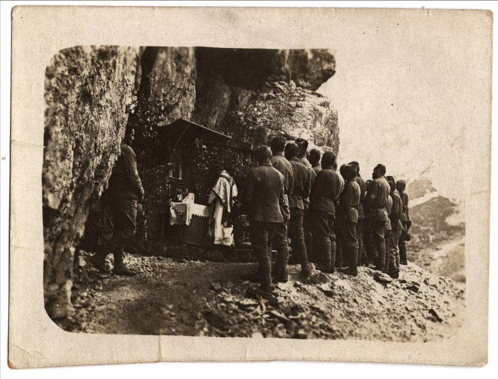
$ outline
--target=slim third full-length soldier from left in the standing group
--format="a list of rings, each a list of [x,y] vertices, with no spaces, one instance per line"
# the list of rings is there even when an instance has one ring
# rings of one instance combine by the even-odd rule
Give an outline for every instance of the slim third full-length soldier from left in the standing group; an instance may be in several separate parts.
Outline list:
[[[301,262],[304,276],[309,276],[310,267],[306,246],[304,244],[303,216],[304,199],[308,199],[311,190],[311,168],[307,168],[297,158],[298,147],[295,143],[285,146],[285,157],[294,169],[294,188],[289,197],[290,221],[288,235],[292,241],[292,256]]]

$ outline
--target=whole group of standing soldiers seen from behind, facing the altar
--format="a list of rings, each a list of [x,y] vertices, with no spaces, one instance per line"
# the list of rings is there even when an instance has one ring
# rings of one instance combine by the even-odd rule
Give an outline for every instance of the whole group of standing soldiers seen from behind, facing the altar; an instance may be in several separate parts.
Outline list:
[[[270,147],[256,149],[258,167],[246,178],[249,241],[259,261],[258,271],[247,278],[271,292],[272,281],[288,280],[288,264],[300,263],[307,277],[310,262],[326,273],[337,269],[356,276],[365,265],[398,277],[399,265],[407,264],[405,182],[386,177],[382,164],[373,169],[372,180],[363,180],[358,162],[337,173],[334,154],[321,156],[316,149],[307,154],[302,138],[286,143],[275,137]]]

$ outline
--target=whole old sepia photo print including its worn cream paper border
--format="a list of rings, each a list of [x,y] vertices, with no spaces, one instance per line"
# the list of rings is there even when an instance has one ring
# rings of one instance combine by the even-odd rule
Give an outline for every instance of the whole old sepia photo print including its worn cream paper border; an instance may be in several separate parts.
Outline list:
[[[9,366],[486,365],[492,34],[14,7]]]

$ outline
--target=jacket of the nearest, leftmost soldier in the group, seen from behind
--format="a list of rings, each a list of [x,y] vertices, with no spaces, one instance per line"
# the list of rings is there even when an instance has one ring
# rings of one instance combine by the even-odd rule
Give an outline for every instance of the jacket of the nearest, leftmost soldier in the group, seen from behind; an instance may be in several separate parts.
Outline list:
[[[283,175],[269,162],[260,163],[246,178],[245,202],[248,221],[283,222],[280,207],[285,204]]]

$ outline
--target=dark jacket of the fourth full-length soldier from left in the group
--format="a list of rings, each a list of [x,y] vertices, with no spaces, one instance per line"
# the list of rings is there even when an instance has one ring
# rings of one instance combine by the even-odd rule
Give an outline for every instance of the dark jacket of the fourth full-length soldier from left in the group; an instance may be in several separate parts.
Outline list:
[[[311,207],[317,211],[336,212],[334,200],[338,200],[343,190],[339,174],[332,168],[324,168],[317,175],[311,188]]]

